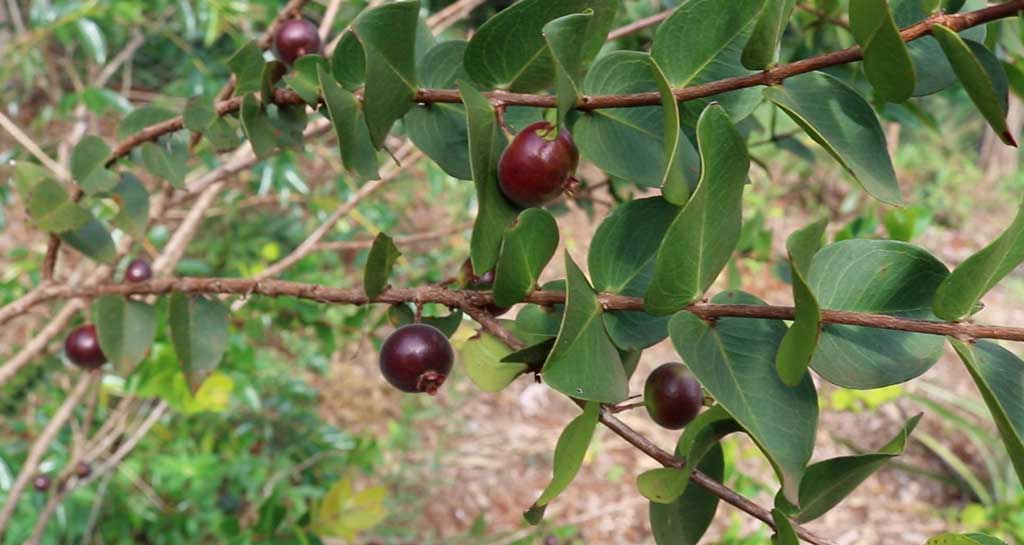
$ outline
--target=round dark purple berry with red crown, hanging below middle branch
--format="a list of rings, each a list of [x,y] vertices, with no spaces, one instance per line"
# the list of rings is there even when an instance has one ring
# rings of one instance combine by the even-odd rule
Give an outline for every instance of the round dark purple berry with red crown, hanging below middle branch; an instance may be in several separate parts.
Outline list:
[[[426,324],[410,324],[384,341],[380,368],[384,378],[401,391],[433,395],[447,378],[454,360],[443,333]]]

